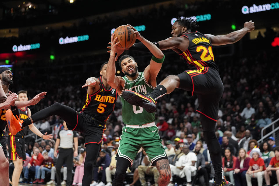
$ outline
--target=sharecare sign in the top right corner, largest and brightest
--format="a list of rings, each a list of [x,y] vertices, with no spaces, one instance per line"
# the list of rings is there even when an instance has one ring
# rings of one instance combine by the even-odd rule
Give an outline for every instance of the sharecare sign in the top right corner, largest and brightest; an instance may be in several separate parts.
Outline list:
[[[249,13],[255,13],[255,12],[263,12],[267,10],[273,10],[273,9],[278,9],[279,8],[279,3],[271,3],[271,4],[263,4],[263,5],[255,5],[253,6],[243,6],[241,8],[241,11],[243,14],[249,14]]]

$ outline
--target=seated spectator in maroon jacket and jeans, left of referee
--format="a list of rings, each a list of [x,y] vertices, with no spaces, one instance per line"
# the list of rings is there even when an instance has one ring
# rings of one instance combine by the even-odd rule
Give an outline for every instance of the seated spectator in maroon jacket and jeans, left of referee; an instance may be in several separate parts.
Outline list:
[[[48,156],[48,152],[44,152],[43,157],[44,157],[44,161],[42,162],[42,165],[38,169],[36,180],[33,181],[33,183],[43,184],[46,172],[51,172],[51,167],[54,166],[53,159]],[[42,172],[42,177],[41,177],[41,172]]]

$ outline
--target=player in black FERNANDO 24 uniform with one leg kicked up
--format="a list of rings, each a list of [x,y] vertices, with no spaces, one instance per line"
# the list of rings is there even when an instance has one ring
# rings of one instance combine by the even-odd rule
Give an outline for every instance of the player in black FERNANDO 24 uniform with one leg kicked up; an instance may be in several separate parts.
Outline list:
[[[176,88],[187,90],[190,96],[197,95],[199,106],[196,111],[201,114],[203,134],[215,170],[215,185],[232,186],[223,178],[221,146],[215,135],[219,100],[224,87],[218,67],[214,62],[212,45],[235,43],[246,33],[253,31],[255,26],[252,21],[245,22],[244,28],[218,36],[204,35],[198,31],[192,32],[194,26],[197,26],[196,20],[178,18],[172,26],[172,37],[154,43],[161,50],[172,49],[182,56],[186,60],[189,70],[178,75],[167,76],[150,94],[124,91],[122,95],[128,103],[141,106],[148,112],[155,112],[154,100],[171,93]],[[141,43],[136,43],[130,49],[147,51]],[[121,53],[123,53],[123,49],[117,48],[117,56]]]

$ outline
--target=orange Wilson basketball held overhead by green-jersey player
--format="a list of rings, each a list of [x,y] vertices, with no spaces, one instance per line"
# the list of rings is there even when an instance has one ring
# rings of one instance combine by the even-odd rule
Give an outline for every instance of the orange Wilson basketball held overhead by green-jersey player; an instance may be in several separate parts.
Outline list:
[[[135,31],[127,25],[121,25],[117,27],[114,31],[115,37],[117,37],[116,43],[120,41],[117,45],[123,49],[130,48],[136,41]]]

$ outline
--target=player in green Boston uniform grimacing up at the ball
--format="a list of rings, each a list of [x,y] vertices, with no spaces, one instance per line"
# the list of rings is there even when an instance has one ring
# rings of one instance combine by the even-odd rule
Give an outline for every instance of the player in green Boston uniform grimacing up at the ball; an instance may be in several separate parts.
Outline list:
[[[155,46],[155,44],[144,39],[138,31],[131,27],[140,40],[153,54],[150,64],[143,72],[137,70],[137,63],[132,56],[124,55],[119,59],[121,71],[126,74],[124,77],[115,76],[115,52],[119,42],[115,43],[114,35],[111,36],[110,59],[107,66],[107,82],[115,88],[122,102],[122,119],[126,124],[122,128],[121,140],[119,141],[116,172],[112,186],[123,184],[126,170],[131,167],[137,151],[143,147],[146,151],[151,166],[156,166],[160,172],[158,185],[168,185],[171,178],[171,170],[166,152],[162,146],[162,140],[158,134],[158,128],[155,125],[154,113],[149,113],[139,106],[130,105],[122,97],[124,90],[135,92],[150,92],[156,85],[156,77],[162,67],[164,54]],[[152,101],[152,100],[150,100]]]

